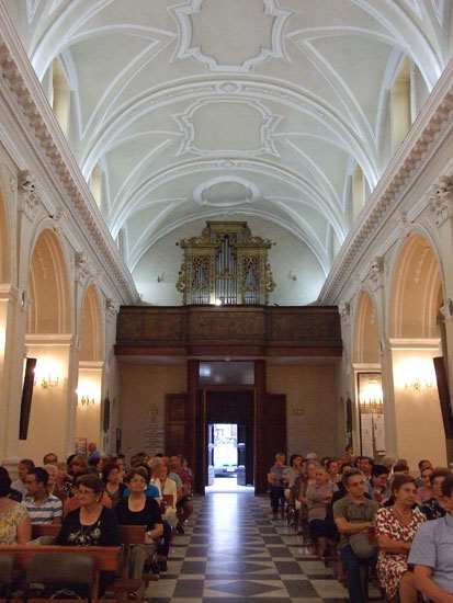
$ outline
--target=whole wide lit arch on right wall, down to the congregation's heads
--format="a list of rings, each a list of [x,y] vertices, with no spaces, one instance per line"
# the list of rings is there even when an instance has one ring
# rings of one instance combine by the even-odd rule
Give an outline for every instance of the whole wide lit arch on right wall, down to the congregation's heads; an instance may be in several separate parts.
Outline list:
[[[389,305],[397,454],[410,466],[429,457],[445,465],[446,448],[433,357],[442,356],[442,280],[434,250],[410,237],[397,259]]]

